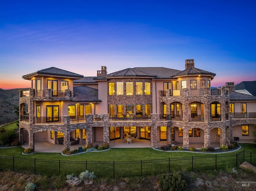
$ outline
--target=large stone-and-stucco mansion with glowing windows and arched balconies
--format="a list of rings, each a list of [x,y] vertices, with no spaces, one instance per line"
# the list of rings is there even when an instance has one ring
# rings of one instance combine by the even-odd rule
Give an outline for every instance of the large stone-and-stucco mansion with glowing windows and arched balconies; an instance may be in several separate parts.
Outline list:
[[[131,134],[152,147],[176,141],[189,148],[252,139],[256,96],[233,92],[234,84],[211,89],[215,75],[195,68],[193,59],[184,71],[135,67],[107,74],[102,66],[97,77],[84,77],[51,67],[25,75],[31,89],[20,91],[20,142],[70,148]]]

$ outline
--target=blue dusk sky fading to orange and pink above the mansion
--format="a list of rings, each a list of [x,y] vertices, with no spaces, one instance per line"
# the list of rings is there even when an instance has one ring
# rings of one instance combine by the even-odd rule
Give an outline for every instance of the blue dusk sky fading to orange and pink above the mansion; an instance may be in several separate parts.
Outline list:
[[[216,73],[212,87],[256,80],[254,0],[1,0],[0,88],[57,67],[96,76],[133,67]]]

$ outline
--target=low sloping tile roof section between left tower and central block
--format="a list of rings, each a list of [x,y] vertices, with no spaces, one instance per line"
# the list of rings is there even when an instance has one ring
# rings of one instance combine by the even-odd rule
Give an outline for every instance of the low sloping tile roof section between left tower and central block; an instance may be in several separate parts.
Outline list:
[[[74,87],[73,102],[101,102],[98,99],[98,90],[87,86]]]

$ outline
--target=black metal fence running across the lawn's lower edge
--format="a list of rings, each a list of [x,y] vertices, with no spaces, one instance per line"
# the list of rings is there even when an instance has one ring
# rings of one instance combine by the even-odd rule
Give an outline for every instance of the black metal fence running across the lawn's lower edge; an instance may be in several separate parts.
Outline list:
[[[140,161],[62,161],[0,156],[0,169],[33,174],[68,175],[83,171],[97,177],[131,177],[158,175],[172,171],[201,171],[237,167],[244,161],[256,165],[256,152],[243,150],[237,154],[210,154],[185,158]]]

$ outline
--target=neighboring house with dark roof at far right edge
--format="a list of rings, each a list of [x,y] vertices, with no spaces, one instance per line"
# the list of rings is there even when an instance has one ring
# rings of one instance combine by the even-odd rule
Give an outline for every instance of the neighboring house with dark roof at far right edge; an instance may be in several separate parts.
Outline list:
[[[235,86],[235,92],[256,96],[256,81],[242,81]]]

